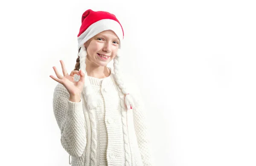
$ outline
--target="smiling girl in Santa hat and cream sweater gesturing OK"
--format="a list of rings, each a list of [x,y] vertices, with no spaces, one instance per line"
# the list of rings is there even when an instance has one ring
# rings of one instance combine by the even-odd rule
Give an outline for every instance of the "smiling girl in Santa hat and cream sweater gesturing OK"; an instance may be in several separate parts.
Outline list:
[[[90,9],[81,22],[75,69],[69,75],[60,61],[63,76],[55,67],[58,78],[50,76],[58,82],[53,111],[61,145],[72,166],[151,166],[143,100],[120,72],[122,25],[115,15]]]

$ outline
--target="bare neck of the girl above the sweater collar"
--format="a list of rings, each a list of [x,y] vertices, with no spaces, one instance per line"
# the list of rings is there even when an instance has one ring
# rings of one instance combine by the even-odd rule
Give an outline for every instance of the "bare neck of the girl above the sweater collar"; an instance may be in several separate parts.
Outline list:
[[[86,72],[88,76],[95,77],[98,79],[106,78],[110,75],[110,70],[107,66],[98,66],[90,62],[89,59],[85,60]]]

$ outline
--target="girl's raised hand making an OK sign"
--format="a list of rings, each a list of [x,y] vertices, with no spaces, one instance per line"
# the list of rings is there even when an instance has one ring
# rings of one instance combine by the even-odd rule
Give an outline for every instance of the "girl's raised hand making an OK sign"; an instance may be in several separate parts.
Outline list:
[[[64,62],[60,60],[61,62],[61,68],[63,72],[63,76],[58,73],[58,70],[55,66],[53,66],[53,70],[55,71],[55,74],[58,78],[50,75],[52,79],[54,79],[56,82],[59,82],[64,85],[64,87],[69,92],[70,96],[81,96],[81,92],[84,87],[84,73],[82,70],[73,70],[71,71],[70,75],[67,73],[67,70],[65,68]],[[77,74],[80,76],[80,80],[78,82],[74,81],[74,75]]]

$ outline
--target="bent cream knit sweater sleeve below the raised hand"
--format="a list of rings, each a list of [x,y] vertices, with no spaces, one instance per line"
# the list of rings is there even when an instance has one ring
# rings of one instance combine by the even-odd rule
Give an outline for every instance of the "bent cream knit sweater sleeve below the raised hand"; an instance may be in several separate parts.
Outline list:
[[[82,100],[76,103],[69,97],[64,85],[58,83],[53,94],[53,112],[61,131],[61,145],[69,155],[81,157],[87,143]]]

